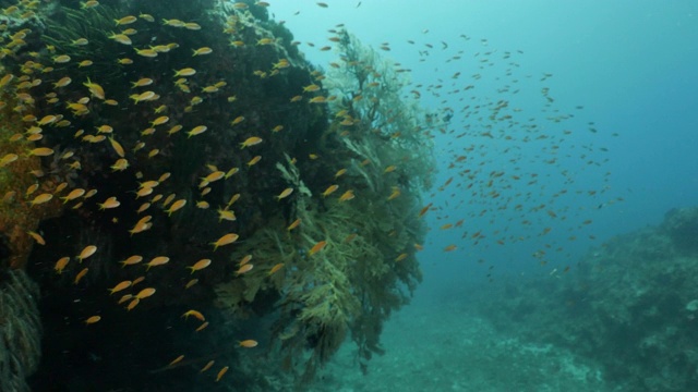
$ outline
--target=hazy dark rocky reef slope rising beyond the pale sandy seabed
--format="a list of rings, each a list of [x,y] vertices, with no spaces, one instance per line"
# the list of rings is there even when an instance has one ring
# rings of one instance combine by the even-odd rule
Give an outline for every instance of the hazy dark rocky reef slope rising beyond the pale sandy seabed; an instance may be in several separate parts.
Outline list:
[[[482,313],[597,362],[624,391],[697,391],[695,277],[698,207],[677,208],[590,250],[566,274],[507,283]]]

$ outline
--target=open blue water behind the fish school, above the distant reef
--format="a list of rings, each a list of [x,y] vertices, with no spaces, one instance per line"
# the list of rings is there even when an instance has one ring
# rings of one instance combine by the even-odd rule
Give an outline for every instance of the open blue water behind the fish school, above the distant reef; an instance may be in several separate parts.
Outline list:
[[[568,229],[576,231],[577,224],[561,222],[540,222],[524,230],[538,233],[547,223],[554,225],[549,236],[555,236],[555,241],[564,244],[566,258],[576,259],[588,246],[599,245],[618,233],[659,223],[669,209],[695,203],[698,196],[698,160],[693,149],[698,145],[695,132],[698,125],[695,115],[698,109],[695,95],[698,47],[694,42],[698,37],[698,7],[694,2],[336,1],[328,4],[328,8],[318,8],[312,1],[278,2],[270,11],[277,20],[286,21],[296,39],[303,42],[303,52],[320,64],[330,61],[332,52],[317,51],[306,42],[321,44],[325,30],[344,23],[362,41],[376,48],[389,42],[392,50],[382,54],[411,69],[414,84],[443,83],[447,86],[450,76],[461,72],[456,85],[464,87],[472,83],[478,91],[488,91],[482,101],[516,99],[517,106],[526,109],[522,118],[538,119],[541,126],[547,127],[544,132],[574,131],[561,148],[563,152],[579,155],[583,146],[591,146],[589,156],[604,162],[600,167],[585,168],[579,159],[565,161],[565,169],[574,172],[575,185],[570,189],[601,192],[605,188],[606,192],[602,197],[573,194],[556,203],[555,207],[568,208],[570,216],[578,220],[592,219],[593,223],[580,233],[567,232]],[[461,34],[470,40],[464,40]],[[409,39],[417,45],[409,45]],[[448,45],[447,49],[442,50],[442,41]],[[434,49],[428,49],[424,44],[431,44]],[[429,51],[429,56],[420,57],[420,50]],[[464,51],[462,59],[447,62],[459,50]],[[492,61],[484,70],[479,70],[478,58],[473,54],[480,52],[482,56],[486,51],[494,52]],[[509,77],[520,81],[520,91],[516,97],[492,91],[505,78],[503,70],[507,68],[507,61],[498,59],[505,51],[510,51],[510,60],[520,65]],[[420,62],[420,59],[425,61]],[[471,79],[469,75],[474,73],[481,73],[482,78]],[[553,76],[539,82],[544,73]],[[543,112],[542,87],[550,88],[550,95],[555,99],[554,109],[575,117],[559,125],[546,123],[544,119],[550,113]],[[458,108],[464,107],[459,99],[470,96],[468,93],[444,94],[436,98],[424,94],[423,102],[431,108],[455,108],[452,128],[458,134],[464,126],[474,128],[483,124],[459,118]],[[576,110],[577,106],[583,109]],[[593,122],[597,133],[588,131],[589,122]],[[441,152],[448,149],[458,151],[470,142],[454,140],[448,135],[437,135],[436,142],[441,168],[435,184],[441,185],[453,175],[457,177],[453,170],[447,169],[453,154]],[[599,147],[606,148],[607,152]],[[538,146],[519,144],[517,148],[525,150],[516,157],[516,167],[524,171],[540,171],[541,176],[554,172],[541,164],[541,159],[533,157]],[[483,160],[489,161],[486,170],[507,168],[510,172],[512,164],[507,159],[512,156],[498,156],[496,151],[492,146],[484,146]],[[541,182],[530,189],[521,187],[520,191],[542,189],[542,194],[532,196],[538,198],[533,201],[546,203],[550,191],[562,187],[559,179],[550,179],[547,188],[543,185],[546,184]],[[623,201],[606,205],[617,197]],[[446,222],[455,223],[461,218],[472,222],[469,217],[480,212],[488,200],[470,198],[452,184],[448,191],[436,192],[430,201],[443,209],[430,215],[430,245],[433,246],[422,254],[426,279],[421,295],[443,287],[443,279],[452,277],[454,270],[460,274],[454,284],[471,278],[481,279],[482,269],[474,262],[478,259],[495,265],[501,271],[539,270],[538,264],[528,255],[551,242],[549,237],[543,242],[508,245],[504,249],[470,247],[469,242],[459,243],[462,231],[453,232],[452,229],[444,232],[438,226]],[[597,209],[602,204],[604,207]],[[481,228],[486,231],[516,230],[516,224],[502,219],[507,215],[510,210],[501,211],[494,223],[490,224],[489,219],[476,220],[471,224],[466,223],[464,229],[470,228],[471,233]],[[535,216],[531,217],[534,219]],[[597,241],[590,241],[589,234]],[[569,235],[578,238],[566,241]],[[450,243],[462,244],[461,252],[444,255],[441,249]]]

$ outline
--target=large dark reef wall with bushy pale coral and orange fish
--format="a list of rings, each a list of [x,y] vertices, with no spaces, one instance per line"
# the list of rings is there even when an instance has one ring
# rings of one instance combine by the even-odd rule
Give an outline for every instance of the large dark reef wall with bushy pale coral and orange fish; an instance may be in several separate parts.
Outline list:
[[[346,32],[315,70],[262,2],[5,14],[0,233],[44,294],[32,388],[183,385],[212,360],[251,388],[269,369],[240,352],[263,347],[303,383],[349,336],[365,370],[421,280],[434,124],[401,70]]]

